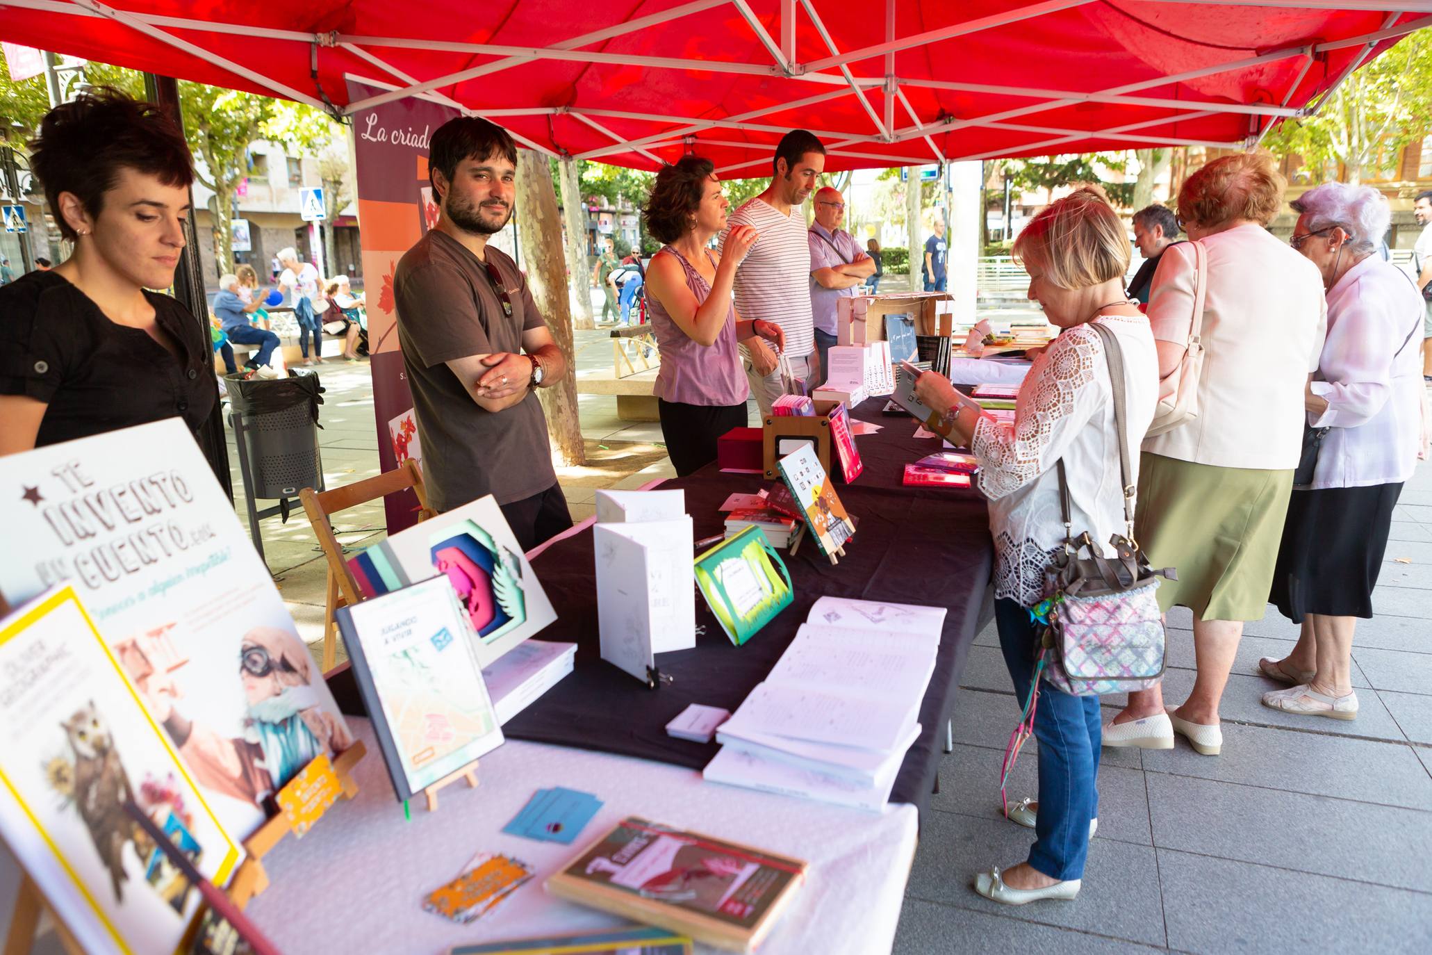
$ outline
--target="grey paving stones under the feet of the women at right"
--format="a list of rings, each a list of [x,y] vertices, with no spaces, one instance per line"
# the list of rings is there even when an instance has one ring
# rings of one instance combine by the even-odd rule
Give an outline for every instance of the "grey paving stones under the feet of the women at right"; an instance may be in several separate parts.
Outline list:
[[[898,955],[945,952],[1432,951],[1432,465],[1403,488],[1373,620],[1358,623],[1359,717],[1262,706],[1257,659],[1297,627],[1269,607],[1247,627],[1223,697],[1221,756],[1106,749],[1098,835],[1074,902],[1010,908],[969,888],[1025,858],[1032,833],[1000,813],[1018,719],[991,624],[955,702],[955,752],[921,825]],[[1193,684],[1187,610],[1169,616],[1171,704]],[[1103,700],[1113,714],[1118,697]],[[1034,742],[1010,798],[1035,795]]]

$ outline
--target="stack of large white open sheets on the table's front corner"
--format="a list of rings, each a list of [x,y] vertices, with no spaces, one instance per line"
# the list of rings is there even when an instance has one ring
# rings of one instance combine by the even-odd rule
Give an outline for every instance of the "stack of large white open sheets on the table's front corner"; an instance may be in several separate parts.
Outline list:
[[[766,680],[716,730],[710,782],[885,808],[935,670],[944,607],[821,597]]]

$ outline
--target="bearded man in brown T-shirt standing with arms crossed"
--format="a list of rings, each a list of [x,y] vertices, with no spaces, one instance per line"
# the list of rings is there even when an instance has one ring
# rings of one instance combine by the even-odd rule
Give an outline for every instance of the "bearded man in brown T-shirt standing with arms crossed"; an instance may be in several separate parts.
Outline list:
[[[497,498],[523,550],[571,527],[536,389],[567,362],[527,279],[488,239],[513,218],[517,146],[475,116],[432,133],[438,223],[398,262],[398,344],[412,391],[428,501]]]

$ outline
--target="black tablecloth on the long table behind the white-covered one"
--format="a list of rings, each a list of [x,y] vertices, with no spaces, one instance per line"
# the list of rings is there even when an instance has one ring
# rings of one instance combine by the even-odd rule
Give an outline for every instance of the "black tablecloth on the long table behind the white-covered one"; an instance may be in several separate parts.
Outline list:
[[[647,689],[601,660],[591,530],[558,541],[533,561],[558,620],[537,634],[541,640],[574,641],[576,670],[510,720],[511,739],[579,746],[702,769],[717,746],[666,735],[666,724],[690,703],[735,712],[760,683],[811,604],[825,594],[948,609],[935,673],[919,707],[922,732],[905,756],[891,795],[924,809],[938,767],[944,723],[981,623],[992,547],[984,500],[975,491],[915,490],[901,485],[911,461],[939,442],[914,438],[908,415],[881,414],[885,398],[872,398],[855,417],[884,425],[858,438],[863,474],[855,484],[836,484],[859,530],[845,557],[831,566],[813,541],[795,557],[782,554],[795,586],[795,601],[742,647],[732,646],[697,593],[696,624],[705,629],[696,647],[663,653],[657,666],[674,677]],[[686,513],[696,538],[720,534],[725,514],[716,508],[735,491],[755,493],[768,484],[758,474],[723,474],[712,464],[686,478],[662,484],[686,491]],[[695,586],[695,584],[693,584]]]

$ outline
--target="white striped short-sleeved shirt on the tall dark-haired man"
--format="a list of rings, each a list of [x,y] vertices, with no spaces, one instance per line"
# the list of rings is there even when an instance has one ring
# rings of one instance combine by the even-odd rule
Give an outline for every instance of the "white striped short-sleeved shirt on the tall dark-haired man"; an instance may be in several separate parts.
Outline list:
[[[736,311],[746,321],[762,318],[786,332],[786,354],[805,358],[815,351],[811,319],[811,243],[805,213],[792,206],[783,216],[763,199],[750,199],[726,220],[749,225],[760,238],[736,269]],[[720,236],[726,246],[726,233]]]

